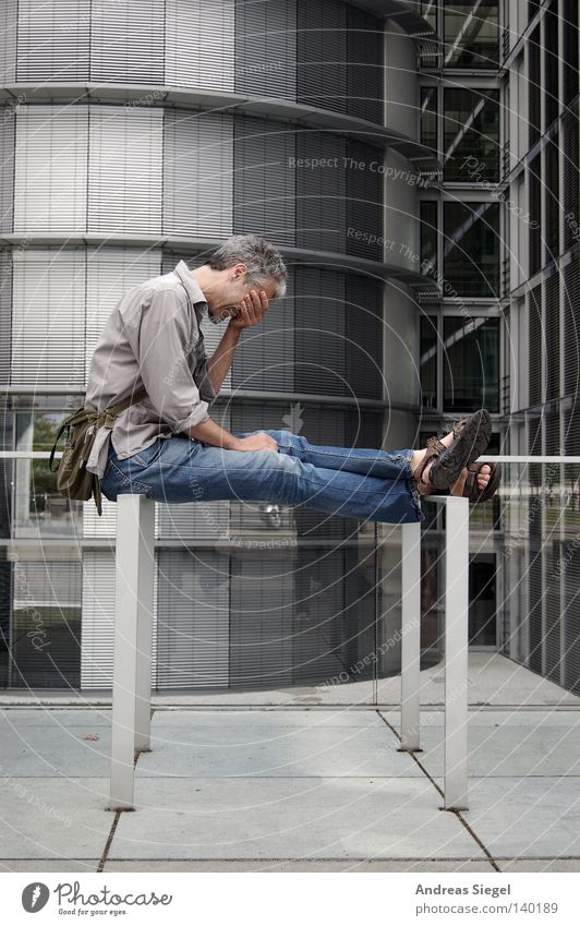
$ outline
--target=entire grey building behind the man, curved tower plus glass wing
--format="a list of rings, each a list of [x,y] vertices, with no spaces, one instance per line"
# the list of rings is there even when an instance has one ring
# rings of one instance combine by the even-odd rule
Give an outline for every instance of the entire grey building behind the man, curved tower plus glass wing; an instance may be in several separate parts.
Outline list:
[[[231,233],[277,243],[290,278],[242,336],[213,410],[223,426],[395,448],[484,405],[492,452],[556,453],[554,416],[566,440],[575,414],[573,310],[549,267],[564,261],[573,290],[578,31],[563,26],[573,3],[529,5],[520,21],[525,4],[497,2],[2,4],[1,441],[23,458],[2,460],[0,685],[110,687],[116,506],[67,504],[25,456],[83,404],[122,292]],[[565,209],[542,192],[558,182]],[[221,332],[207,326],[208,353]],[[432,507],[424,664],[439,658]],[[500,501],[472,516],[470,633],[555,677],[556,611],[529,608],[559,550],[546,552],[548,517],[507,557]],[[157,505],[156,519],[155,688],[398,671],[398,526],[233,502]],[[530,556],[543,573],[520,581]],[[558,662],[567,687],[573,664]]]

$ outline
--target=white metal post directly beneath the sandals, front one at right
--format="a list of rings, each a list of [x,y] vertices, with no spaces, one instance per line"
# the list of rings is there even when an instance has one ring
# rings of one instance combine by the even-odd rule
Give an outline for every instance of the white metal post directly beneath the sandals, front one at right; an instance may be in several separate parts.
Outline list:
[[[468,809],[469,498],[445,498],[445,809]]]

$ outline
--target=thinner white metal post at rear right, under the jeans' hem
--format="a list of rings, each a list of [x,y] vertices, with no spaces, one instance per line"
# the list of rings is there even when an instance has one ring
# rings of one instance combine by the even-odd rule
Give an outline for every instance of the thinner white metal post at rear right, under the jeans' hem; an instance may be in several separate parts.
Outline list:
[[[402,526],[401,750],[418,751],[420,738],[421,524]]]

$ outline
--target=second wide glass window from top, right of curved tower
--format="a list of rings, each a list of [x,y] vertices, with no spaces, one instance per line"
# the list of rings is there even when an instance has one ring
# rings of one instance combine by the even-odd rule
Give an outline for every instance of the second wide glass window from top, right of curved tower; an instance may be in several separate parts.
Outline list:
[[[499,91],[444,92],[444,180],[499,179]]]

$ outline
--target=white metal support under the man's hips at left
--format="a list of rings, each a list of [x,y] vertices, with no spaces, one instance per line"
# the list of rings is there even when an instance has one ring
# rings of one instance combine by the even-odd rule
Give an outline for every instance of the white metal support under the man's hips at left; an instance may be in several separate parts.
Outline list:
[[[148,748],[155,502],[117,501],[114,659],[109,809],[133,807],[135,749]]]

